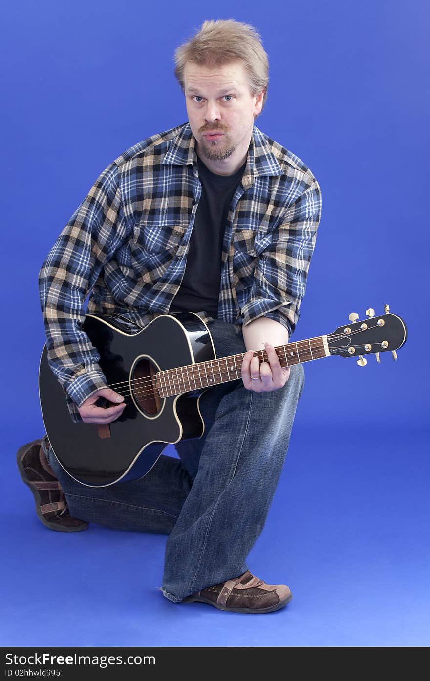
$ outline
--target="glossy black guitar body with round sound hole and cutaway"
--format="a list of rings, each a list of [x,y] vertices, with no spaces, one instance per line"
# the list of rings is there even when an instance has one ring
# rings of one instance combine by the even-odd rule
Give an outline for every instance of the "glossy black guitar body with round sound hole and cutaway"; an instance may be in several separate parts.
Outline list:
[[[166,398],[145,389],[157,371],[215,358],[211,334],[198,315],[160,315],[145,329],[119,316],[87,315],[84,331],[100,353],[108,385],[115,390],[121,384],[118,392],[128,396],[110,432],[107,426],[103,433],[95,424],[73,423],[45,345],[39,368],[43,423],[56,458],[71,477],[92,487],[139,479],[168,443],[202,437],[198,401],[207,388]]]

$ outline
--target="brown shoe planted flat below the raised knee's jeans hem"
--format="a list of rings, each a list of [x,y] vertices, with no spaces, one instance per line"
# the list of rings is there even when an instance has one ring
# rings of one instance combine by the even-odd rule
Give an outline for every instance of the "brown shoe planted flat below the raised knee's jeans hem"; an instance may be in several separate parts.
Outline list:
[[[209,603],[220,610],[263,614],[287,605],[293,595],[285,584],[266,584],[249,571],[240,577],[187,596],[182,603]]]

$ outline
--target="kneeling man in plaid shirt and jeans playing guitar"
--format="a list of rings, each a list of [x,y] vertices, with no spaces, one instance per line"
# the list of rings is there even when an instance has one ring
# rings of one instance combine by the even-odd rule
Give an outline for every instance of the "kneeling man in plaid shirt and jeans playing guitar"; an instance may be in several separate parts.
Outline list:
[[[160,456],[141,480],[79,485],[46,437],[21,447],[18,466],[53,529],[98,522],[168,533],[169,600],[261,614],[291,599],[287,586],[254,577],[246,558],[304,383],[302,365],[282,368],[274,346],[288,342],[298,320],[321,195],[306,165],[254,125],[268,86],[255,29],[206,21],[175,61],[189,123],[115,159],[41,268],[50,366],[73,420],[107,424],[121,415],[124,398],[107,387],[82,331],[90,292],[89,312],[142,327],[154,315],[198,313],[217,357],[246,352],[242,379],[207,390],[204,437],[177,443],[179,460]],[[259,364],[253,351],[263,348],[269,362]],[[100,396],[111,406],[98,407]]]

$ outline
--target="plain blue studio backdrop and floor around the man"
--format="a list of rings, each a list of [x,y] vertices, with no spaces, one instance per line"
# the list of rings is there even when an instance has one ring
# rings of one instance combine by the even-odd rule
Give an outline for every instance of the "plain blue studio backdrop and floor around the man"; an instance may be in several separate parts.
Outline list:
[[[429,644],[428,3],[17,1],[3,9],[3,645]],[[294,599],[264,618],[173,605],[165,537],[44,528],[16,449],[43,434],[37,274],[100,172],[187,120],[173,52],[206,18],[257,27],[256,125],[317,176],[323,217],[294,340],[388,302],[409,337],[366,368],[306,365],[287,462],[249,564]],[[171,453],[171,452],[170,452]]]

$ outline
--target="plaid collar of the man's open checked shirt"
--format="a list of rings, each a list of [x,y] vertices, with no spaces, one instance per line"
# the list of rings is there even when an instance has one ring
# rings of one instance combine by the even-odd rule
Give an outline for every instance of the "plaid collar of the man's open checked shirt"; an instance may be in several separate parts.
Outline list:
[[[171,148],[168,150],[163,165],[192,165],[194,170],[197,168],[196,138],[190,128],[190,123],[184,123],[179,134],[173,140]],[[247,156],[247,165],[243,173],[242,184],[246,189],[251,187],[254,178],[259,176],[283,175],[281,165],[272,152],[266,136],[257,127],[253,127],[251,144]]]

